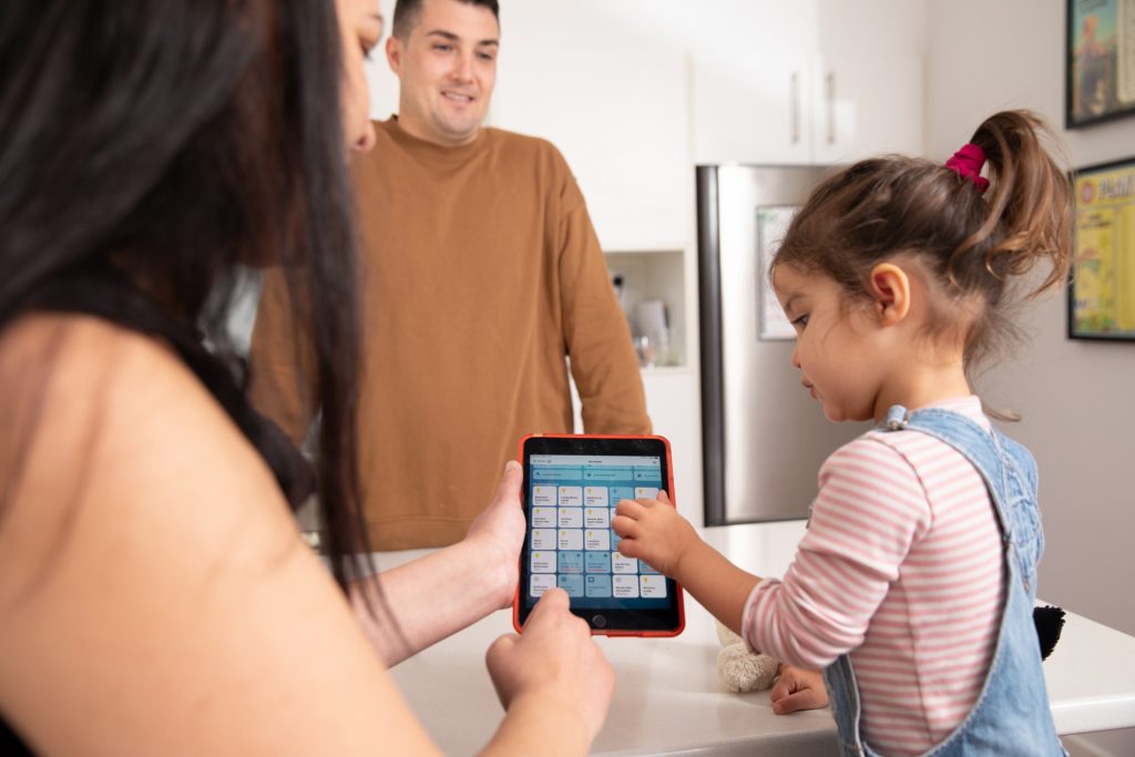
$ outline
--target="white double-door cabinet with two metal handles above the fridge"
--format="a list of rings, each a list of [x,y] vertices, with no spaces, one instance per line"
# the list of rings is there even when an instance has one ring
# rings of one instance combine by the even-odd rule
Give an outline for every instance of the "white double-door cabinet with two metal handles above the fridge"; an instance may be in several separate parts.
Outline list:
[[[768,6],[753,2],[745,12],[763,17]],[[925,3],[818,0],[797,12],[791,37],[767,39],[762,25],[764,34],[745,43],[692,49],[695,162],[920,154]]]

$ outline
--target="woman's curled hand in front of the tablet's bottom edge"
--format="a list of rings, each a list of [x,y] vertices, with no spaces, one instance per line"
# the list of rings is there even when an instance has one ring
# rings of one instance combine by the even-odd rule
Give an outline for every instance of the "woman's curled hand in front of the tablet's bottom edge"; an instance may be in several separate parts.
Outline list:
[[[549,589],[528,616],[524,634],[498,638],[485,662],[505,709],[530,699],[545,713],[574,715],[590,742],[606,720],[615,672],[587,622],[568,606],[563,589]]]

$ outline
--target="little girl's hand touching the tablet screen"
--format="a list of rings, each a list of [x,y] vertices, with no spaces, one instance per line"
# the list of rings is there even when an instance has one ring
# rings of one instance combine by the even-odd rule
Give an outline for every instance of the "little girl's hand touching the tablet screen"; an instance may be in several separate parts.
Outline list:
[[[650,567],[671,578],[679,578],[682,557],[701,544],[693,527],[678,514],[665,491],[658,493],[657,501],[623,499],[611,527],[621,538],[619,552],[645,560]]]

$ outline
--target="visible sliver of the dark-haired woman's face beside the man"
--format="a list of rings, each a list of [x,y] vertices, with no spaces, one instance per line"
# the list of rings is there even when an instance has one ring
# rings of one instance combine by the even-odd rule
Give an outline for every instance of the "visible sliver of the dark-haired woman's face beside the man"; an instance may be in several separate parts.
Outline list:
[[[347,148],[367,152],[375,146],[370,123],[370,89],[363,58],[382,37],[378,0],[336,0],[343,37],[343,129]]]

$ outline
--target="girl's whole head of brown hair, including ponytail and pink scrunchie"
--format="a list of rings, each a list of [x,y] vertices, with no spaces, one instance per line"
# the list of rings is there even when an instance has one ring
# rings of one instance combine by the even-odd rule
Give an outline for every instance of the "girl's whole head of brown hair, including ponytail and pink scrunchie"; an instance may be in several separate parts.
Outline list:
[[[841,170],[813,192],[773,264],[830,276],[854,302],[868,296],[875,264],[914,261],[932,295],[930,333],[960,329],[973,367],[1015,333],[1007,317],[1015,277],[1046,261],[1039,294],[1067,275],[1069,182],[1046,133],[1029,112],[999,112],[970,138],[981,152],[967,148],[958,168],[889,155]]]

